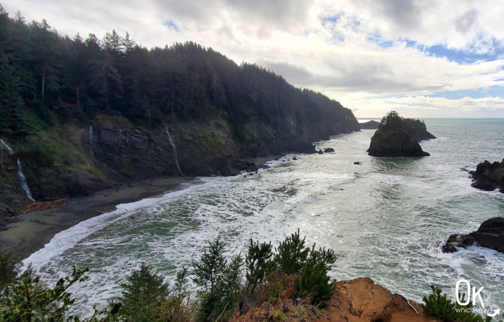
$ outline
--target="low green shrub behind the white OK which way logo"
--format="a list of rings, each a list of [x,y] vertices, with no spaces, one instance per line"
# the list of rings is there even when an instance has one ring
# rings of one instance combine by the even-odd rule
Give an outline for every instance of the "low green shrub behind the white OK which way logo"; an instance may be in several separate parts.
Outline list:
[[[472,303],[468,305],[460,305],[452,302],[446,297],[446,294],[441,295],[442,290],[439,287],[431,285],[432,294],[428,297],[424,296],[422,305],[425,314],[435,317],[443,322],[484,322],[490,321],[491,317],[485,318],[477,315],[471,311]],[[464,301],[465,294],[462,294],[462,301]]]

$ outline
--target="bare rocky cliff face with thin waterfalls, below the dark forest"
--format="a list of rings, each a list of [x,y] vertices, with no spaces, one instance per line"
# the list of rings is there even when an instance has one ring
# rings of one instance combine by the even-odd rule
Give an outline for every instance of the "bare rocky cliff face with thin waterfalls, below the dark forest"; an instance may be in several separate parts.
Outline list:
[[[240,141],[230,121],[219,116],[148,127],[136,126],[122,116],[100,114],[91,126],[69,122],[26,141],[10,140],[14,155],[4,151],[0,164],[0,212],[4,218],[12,216],[29,202],[17,178],[16,157],[23,162],[34,199],[48,200],[87,196],[160,176],[229,176],[255,171],[259,165],[243,158],[288,151],[313,153],[311,141],[359,130],[351,112],[348,119],[335,117],[320,124],[294,117],[279,119],[277,124],[274,128],[248,122],[242,129],[246,138]]]

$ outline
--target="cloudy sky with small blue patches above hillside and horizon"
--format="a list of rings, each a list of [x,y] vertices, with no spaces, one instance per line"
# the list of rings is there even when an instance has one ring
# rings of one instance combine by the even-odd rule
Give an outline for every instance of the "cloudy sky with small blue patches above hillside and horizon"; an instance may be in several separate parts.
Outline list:
[[[504,2],[0,0],[62,35],[195,41],[322,92],[356,117],[504,118]]]

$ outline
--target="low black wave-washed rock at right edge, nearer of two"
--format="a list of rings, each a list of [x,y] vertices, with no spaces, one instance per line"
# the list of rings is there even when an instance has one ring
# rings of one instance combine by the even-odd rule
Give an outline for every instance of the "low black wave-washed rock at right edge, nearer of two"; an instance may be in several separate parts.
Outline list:
[[[453,253],[457,247],[466,248],[474,244],[504,253],[504,217],[485,220],[478,230],[466,235],[451,235],[443,246],[443,252]]]

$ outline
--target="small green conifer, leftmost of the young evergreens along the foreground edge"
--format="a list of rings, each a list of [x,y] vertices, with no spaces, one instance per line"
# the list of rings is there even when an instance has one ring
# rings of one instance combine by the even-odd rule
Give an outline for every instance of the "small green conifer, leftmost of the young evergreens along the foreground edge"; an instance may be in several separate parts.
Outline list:
[[[133,271],[126,280],[127,283],[121,284],[120,314],[130,322],[156,319],[158,316],[155,309],[170,295],[163,277],[156,275],[148,265],[142,263],[140,269]]]

